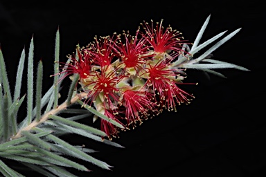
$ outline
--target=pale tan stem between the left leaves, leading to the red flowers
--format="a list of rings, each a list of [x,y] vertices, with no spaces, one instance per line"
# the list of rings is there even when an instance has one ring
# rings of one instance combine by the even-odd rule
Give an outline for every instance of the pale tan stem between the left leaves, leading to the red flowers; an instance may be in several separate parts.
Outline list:
[[[77,94],[76,96],[72,97],[71,104],[76,103],[78,100],[81,100],[82,97],[86,97],[86,96],[87,96],[87,93],[85,92]],[[48,111],[47,113],[42,115],[39,121],[34,120],[30,124],[28,124],[28,126],[24,127],[23,129],[20,129],[15,136],[11,137],[11,139],[14,140],[14,139],[20,138],[22,136],[21,131],[30,131],[34,127],[37,127],[39,124],[42,124],[43,122],[48,120],[48,115],[56,115],[63,109],[67,109],[67,107],[70,106],[71,104],[67,104],[67,101],[63,102],[62,104],[60,104],[60,106],[57,106],[56,109],[52,109],[51,111]]]

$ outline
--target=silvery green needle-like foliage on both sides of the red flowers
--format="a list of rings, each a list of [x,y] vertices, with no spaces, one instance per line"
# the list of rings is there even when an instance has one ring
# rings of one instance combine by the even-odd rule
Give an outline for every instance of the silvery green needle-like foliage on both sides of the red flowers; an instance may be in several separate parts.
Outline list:
[[[195,68],[221,77],[224,77],[224,75],[213,71],[214,68],[237,68],[242,71],[248,71],[246,68],[241,66],[209,59],[209,57],[207,57],[215,49],[224,44],[224,42],[236,35],[240,29],[231,32],[229,35],[211,46],[211,48],[206,50],[206,52],[201,56],[195,59],[193,58],[195,53],[202,50],[202,48],[209,46],[225,33],[221,32],[215,37],[199,44],[204,30],[209,23],[209,19],[210,17],[206,19],[194,41],[192,48],[184,44],[183,50],[187,53],[181,53],[177,61],[172,63],[172,67]],[[33,73],[33,39],[30,42],[30,49],[28,53],[28,89],[26,95],[21,95],[20,93],[22,73],[24,71],[25,50],[22,51],[21,58],[19,60],[16,78],[17,82],[15,84],[15,91],[13,95],[11,95],[10,92],[6,66],[3,54],[0,50],[0,172],[3,176],[23,176],[22,174],[19,174],[19,172],[15,171],[14,168],[6,165],[5,161],[7,159],[14,160],[18,164],[21,163],[25,166],[25,168],[39,171],[39,173],[44,176],[75,176],[67,170],[68,168],[89,171],[89,169],[87,169],[84,165],[80,165],[78,162],[66,158],[67,156],[91,162],[103,169],[109,169],[109,167],[111,167],[110,165],[107,165],[107,163],[98,160],[89,154],[94,152],[94,150],[83,148],[81,146],[70,145],[69,142],[60,138],[60,136],[69,133],[85,136],[87,138],[91,138],[92,140],[103,142],[114,147],[122,147],[115,142],[111,142],[106,139],[103,140],[102,138],[106,136],[103,131],[76,122],[77,120],[87,118],[91,114],[96,114],[98,117],[109,121],[117,127],[123,128],[123,126],[118,124],[118,122],[109,120],[105,115],[98,113],[95,109],[88,105],[83,104],[84,109],[71,109],[71,107],[69,107],[73,104],[73,101],[82,104],[80,96],[77,96],[76,91],[74,91],[76,82],[78,82],[78,77],[74,77],[73,79],[69,88],[67,100],[58,105],[58,95],[61,83],[60,82],[58,84],[58,80],[64,78],[64,74],[57,75],[57,73],[59,73],[59,41],[59,31],[57,30],[55,39],[54,85],[51,86],[44,95],[42,95],[42,61],[38,64],[36,75]],[[67,64],[69,62],[70,60]],[[200,62],[204,62],[204,64]],[[67,67],[67,64],[64,67]],[[33,77],[34,75],[35,77]],[[33,95],[33,93],[35,93],[35,95]],[[27,115],[22,122],[18,123],[17,115],[21,104],[27,105]],[[35,107],[33,107],[33,105],[35,105]],[[58,113],[68,113],[70,117],[62,118],[58,115]],[[78,115],[71,116],[71,113]]]

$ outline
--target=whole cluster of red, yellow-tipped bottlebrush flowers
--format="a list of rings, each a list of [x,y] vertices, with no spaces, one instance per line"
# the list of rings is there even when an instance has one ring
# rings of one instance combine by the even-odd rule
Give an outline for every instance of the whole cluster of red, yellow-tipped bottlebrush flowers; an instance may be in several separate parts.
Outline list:
[[[162,21],[155,27],[144,21],[134,35],[123,31],[122,35],[95,37],[88,46],[78,47],[61,73],[78,73],[87,93],[85,103],[127,129],[134,128],[136,122],[163,109],[176,111],[177,105],[193,98],[179,88],[184,71],[172,66],[179,55],[188,54],[182,49],[184,44],[181,32],[163,28]],[[100,121],[108,136],[117,135],[113,124]]]

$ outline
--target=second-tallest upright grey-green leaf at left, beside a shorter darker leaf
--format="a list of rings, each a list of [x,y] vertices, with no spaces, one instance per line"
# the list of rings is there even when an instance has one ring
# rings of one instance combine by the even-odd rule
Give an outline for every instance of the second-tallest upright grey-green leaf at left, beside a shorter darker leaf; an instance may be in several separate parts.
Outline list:
[[[28,53],[28,82],[27,82],[27,124],[33,120],[33,37],[30,41],[30,50]]]

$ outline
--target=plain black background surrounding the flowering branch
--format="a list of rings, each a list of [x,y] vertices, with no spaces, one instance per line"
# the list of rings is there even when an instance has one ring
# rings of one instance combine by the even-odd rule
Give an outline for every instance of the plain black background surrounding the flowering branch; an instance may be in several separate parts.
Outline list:
[[[35,42],[35,65],[44,62],[44,91],[53,83],[55,32],[60,28],[60,60],[86,46],[94,35],[134,32],[139,23],[161,21],[181,31],[193,42],[211,14],[203,41],[242,28],[213,52],[216,59],[249,68],[249,72],[220,70],[227,79],[188,71],[186,85],[196,99],[179,106],[177,113],[164,112],[114,139],[125,149],[101,145],[85,138],[68,138],[76,145],[99,150],[93,155],[114,166],[112,171],[85,164],[92,172],[78,176],[265,176],[265,10],[256,1],[0,1],[0,43],[10,85],[21,50]],[[36,72],[36,71],[35,71]],[[26,73],[25,73],[26,74]],[[26,82],[26,75],[24,75]],[[66,80],[67,91],[69,81]],[[22,88],[26,93],[26,87]],[[66,93],[62,91],[62,97]],[[61,100],[62,101],[62,100]],[[23,115],[24,112],[21,113]],[[91,122],[91,120],[87,120]],[[82,163],[82,162],[81,162]],[[27,175],[25,172],[24,174]]]

